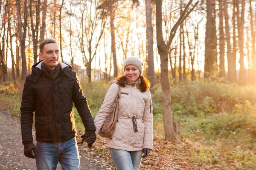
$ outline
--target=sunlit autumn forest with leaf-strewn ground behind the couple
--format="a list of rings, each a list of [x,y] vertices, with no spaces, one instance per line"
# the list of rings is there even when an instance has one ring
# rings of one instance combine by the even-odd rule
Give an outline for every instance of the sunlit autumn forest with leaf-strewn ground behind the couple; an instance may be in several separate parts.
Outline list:
[[[0,18],[0,103],[13,116],[45,38],[58,40],[93,117],[138,56],[154,114],[142,169],[256,169],[255,0],[0,0]],[[104,143],[88,153],[113,169]]]

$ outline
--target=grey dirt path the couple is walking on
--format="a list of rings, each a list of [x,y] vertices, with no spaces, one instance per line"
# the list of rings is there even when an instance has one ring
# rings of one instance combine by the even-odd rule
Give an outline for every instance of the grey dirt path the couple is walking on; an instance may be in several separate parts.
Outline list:
[[[33,130],[33,135],[35,131]],[[106,170],[87,156],[79,146],[81,170]],[[20,121],[0,108],[0,170],[36,170],[35,159],[23,154]],[[61,167],[58,167],[61,170]]]

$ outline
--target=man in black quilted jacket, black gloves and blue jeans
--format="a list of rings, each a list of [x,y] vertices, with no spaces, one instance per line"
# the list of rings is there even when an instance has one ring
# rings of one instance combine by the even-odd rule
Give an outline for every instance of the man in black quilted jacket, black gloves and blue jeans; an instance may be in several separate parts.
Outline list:
[[[81,136],[88,147],[96,140],[95,125],[76,72],[59,61],[55,40],[40,43],[40,62],[26,77],[21,102],[21,134],[26,157],[35,158],[37,169],[52,170],[58,162],[65,170],[80,169],[73,102],[85,127]],[[35,112],[36,147],[32,124]]]

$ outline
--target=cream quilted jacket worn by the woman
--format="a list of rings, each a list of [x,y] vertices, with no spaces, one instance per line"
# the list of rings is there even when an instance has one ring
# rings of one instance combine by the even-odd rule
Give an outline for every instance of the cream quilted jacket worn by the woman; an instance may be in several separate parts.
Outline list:
[[[94,119],[96,134],[99,133],[111,111],[112,104],[117,97],[117,90],[117,84],[111,85]],[[137,118],[138,132],[134,131],[132,116]],[[132,85],[122,87],[117,119],[116,129],[112,137],[108,139],[108,147],[127,151],[152,149],[153,114],[149,90],[142,93]]]

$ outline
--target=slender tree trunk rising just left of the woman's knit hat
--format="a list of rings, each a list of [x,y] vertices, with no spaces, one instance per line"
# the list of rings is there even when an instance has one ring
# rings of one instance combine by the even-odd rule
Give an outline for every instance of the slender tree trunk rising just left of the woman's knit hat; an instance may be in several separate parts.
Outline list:
[[[113,57],[114,77],[116,77],[118,74],[118,68],[117,68],[117,60],[116,60],[116,39],[115,39],[115,28],[114,28],[115,14],[113,10],[113,0],[110,0],[109,12],[110,12],[110,28],[111,28],[111,53]]]

